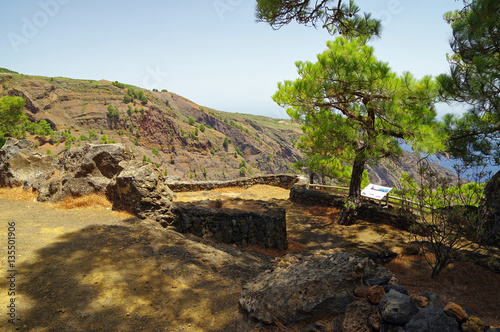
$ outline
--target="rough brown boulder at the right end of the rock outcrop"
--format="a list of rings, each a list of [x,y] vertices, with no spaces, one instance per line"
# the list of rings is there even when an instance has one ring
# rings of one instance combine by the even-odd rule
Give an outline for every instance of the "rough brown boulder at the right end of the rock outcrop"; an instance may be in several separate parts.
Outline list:
[[[151,164],[142,161],[122,161],[123,169],[110,190],[113,207],[131,211],[141,219],[156,220],[170,225],[174,193],[164,184],[163,175]]]

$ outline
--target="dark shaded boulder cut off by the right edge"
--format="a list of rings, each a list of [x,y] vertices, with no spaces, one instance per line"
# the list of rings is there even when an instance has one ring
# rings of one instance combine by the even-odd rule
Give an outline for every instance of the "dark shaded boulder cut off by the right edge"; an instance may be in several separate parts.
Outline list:
[[[485,244],[500,243],[500,171],[495,174],[484,188],[483,198],[479,202],[479,215],[484,221]]]

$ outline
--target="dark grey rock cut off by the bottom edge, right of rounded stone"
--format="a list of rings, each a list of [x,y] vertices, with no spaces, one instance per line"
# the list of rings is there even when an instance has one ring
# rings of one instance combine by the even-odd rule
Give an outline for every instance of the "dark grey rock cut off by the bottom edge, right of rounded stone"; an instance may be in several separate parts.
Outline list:
[[[405,325],[406,332],[459,332],[457,321],[441,309],[426,307]]]

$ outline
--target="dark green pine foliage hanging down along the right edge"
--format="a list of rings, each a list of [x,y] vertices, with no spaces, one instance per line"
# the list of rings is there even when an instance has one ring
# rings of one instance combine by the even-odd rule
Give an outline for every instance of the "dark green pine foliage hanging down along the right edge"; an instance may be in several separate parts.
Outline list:
[[[448,114],[447,150],[469,164],[500,164],[500,2],[466,0],[461,11],[445,14],[453,29],[450,71],[438,76],[440,94],[466,105]]]

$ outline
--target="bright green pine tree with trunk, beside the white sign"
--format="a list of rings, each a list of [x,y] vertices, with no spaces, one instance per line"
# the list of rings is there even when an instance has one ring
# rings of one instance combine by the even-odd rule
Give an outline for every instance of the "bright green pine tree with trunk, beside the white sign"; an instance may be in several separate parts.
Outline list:
[[[297,62],[300,78],[280,83],[273,99],[303,125],[299,147],[312,160],[308,166],[352,167],[341,214],[348,222],[361,201],[367,163],[401,155],[401,141],[416,151],[442,151],[446,135],[435,120],[437,89],[430,77],[396,75],[363,39],[339,37],[327,46],[316,63]]]

